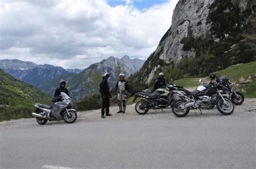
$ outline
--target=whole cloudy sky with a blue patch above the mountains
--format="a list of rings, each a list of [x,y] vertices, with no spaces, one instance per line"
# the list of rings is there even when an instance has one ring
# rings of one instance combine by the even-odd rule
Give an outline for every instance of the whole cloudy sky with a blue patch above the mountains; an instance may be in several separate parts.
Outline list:
[[[86,68],[110,56],[147,59],[178,0],[0,0],[0,60]]]

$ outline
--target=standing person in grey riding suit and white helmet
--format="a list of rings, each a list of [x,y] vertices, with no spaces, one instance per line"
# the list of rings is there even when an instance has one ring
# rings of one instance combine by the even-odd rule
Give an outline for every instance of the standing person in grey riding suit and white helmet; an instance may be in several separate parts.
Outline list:
[[[119,75],[119,81],[117,82],[116,89],[118,92],[117,100],[119,111],[117,113],[125,113],[126,109],[126,98],[129,91],[129,83],[125,81],[125,75],[121,73]]]

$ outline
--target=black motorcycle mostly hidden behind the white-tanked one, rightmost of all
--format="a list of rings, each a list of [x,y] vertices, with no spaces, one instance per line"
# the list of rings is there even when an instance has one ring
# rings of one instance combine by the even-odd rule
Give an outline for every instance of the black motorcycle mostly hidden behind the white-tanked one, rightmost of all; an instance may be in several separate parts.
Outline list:
[[[228,90],[224,90],[224,93],[227,94],[230,98],[230,100],[235,105],[240,105],[244,103],[245,97],[240,91],[235,91],[233,89],[233,84],[227,77],[223,77],[220,79],[220,84],[224,85],[228,88]]]

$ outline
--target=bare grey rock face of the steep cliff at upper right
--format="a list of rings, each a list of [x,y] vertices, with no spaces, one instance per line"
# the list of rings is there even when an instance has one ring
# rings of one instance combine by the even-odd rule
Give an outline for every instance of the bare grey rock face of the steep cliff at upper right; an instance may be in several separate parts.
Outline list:
[[[230,3],[230,8],[228,8],[227,3]],[[214,6],[212,4],[214,4]],[[233,12],[232,10],[234,10],[231,5],[240,9],[237,13],[242,13],[248,8],[251,8],[251,1],[227,0],[226,2],[221,2],[218,0],[180,0],[173,11],[170,29],[167,30],[163,38],[161,38],[156,51],[150,55],[145,66],[143,66],[140,71],[140,76],[138,76],[136,80],[150,83],[154,76],[156,76],[156,72],[159,72],[162,66],[174,65],[183,58],[195,57],[199,47],[194,45],[196,40],[186,41],[188,39],[201,38],[219,41],[220,39],[212,32],[215,20],[209,19],[209,13],[214,10],[219,10],[220,13],[223,14],[223,17],[226,17],[225,13],[227,13],[227,16],[229,17],[228,13],[231,13]],[[237,16],[233,17],[235,18]],[[221,24],[226,23],[224,21]],[[229,33],[230,32],[225,32],[224,34],[228,37]]]

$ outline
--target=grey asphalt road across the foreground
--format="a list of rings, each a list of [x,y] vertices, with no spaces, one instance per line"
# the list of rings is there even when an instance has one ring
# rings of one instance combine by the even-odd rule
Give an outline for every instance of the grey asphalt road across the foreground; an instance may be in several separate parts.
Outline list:
[[[172,118],[125,114],[74,124],[41,126],[33,121],[33,125],[16,128],[1,126],[0,167],[255,168],[254,114],[177,118],[159,112],[159,117]]]

